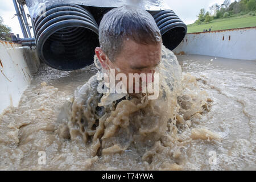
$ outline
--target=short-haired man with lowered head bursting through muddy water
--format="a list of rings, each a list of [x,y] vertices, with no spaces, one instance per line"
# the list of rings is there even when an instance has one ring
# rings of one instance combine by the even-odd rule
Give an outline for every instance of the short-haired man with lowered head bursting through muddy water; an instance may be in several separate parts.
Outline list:
[[[95,49],[100,61],[102,72],[108,76],[114,69],[116,76],[123,73],[129,78],[129,73],[155,73],[156,66],[162,56],[162,37],[154,18],[146,10],[134,6],[121,6],[110,10],[104,15],[99,27],[100,47]],[[139,82],[142,82],[140,80]],[[147,84],[154,82],[154,75]],[[129,94],[109,95],[97,92],[99,85],[97,76],[75,92],[72,104],[72,114],[68,123],[71,139],[78,135],[88,141],[88,136],[95,134],[99,119],[109,110],[113,110],[118,102],[130,98]],[[127,81],[127,92],[131,80]],[[146,84],[146,85],[147,85]],[[135,90],[133,84],[133,90]],[[140,93],[142,91],[140,86]],[[94,136],[95,137],[95,136]]]

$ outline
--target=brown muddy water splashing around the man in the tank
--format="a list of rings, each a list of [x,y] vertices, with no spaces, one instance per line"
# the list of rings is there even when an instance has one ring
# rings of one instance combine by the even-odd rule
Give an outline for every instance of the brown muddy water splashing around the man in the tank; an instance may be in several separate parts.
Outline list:
[[[182,80],[175,56],[163,50],[172,73],[162,72],[158,100],[134,97],[105,114],[92,112],[100,99],[93,86],[77,92],[97,73],[93,65],[73,72],[42,65],[19,106],[1,115],[0,169],[255,170],[256,63],[177,59]]]

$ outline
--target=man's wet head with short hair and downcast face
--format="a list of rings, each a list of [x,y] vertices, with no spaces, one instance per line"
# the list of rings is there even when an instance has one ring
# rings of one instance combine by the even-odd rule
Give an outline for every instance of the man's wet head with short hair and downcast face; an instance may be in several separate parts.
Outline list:
[[[134,6],[110,10],[101,20],[99,40],[95,52],[105,70],[117,69],[128,77],[128,73],[154,73],[160,63],[162,37],[146,10]]]

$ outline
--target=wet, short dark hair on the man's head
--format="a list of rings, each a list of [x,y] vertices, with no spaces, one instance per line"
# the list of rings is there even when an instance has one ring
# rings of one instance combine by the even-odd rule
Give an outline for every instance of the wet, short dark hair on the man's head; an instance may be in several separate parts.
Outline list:
[[[125,39],[144,45],[162,42],[160,30],[152,15],[131,5],[110,10],[103,16],[99,27],[101,49],[111,61],[122,51]]]

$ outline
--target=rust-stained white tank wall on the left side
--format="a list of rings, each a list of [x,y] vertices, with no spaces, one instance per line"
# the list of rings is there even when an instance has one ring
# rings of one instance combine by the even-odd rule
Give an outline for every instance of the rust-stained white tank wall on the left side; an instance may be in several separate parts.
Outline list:
[[[8,106],[18,106],[39,65],[35,50],[0,40],[0,114]]]

